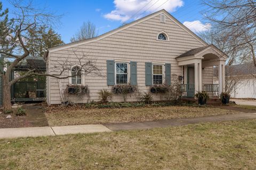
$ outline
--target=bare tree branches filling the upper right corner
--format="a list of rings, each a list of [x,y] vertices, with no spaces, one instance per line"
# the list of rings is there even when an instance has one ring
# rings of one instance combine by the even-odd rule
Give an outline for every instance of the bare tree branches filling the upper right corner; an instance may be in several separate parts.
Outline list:
[[[239,52],[236,55],[239,60],[253,61],[256,66],[255,0],[203,0],[203,4],[207,6],[203,11],[205,18],[211,22],[219,39],[228,43],[223,51]],[[233,60],[231,58],[230,62]]]

